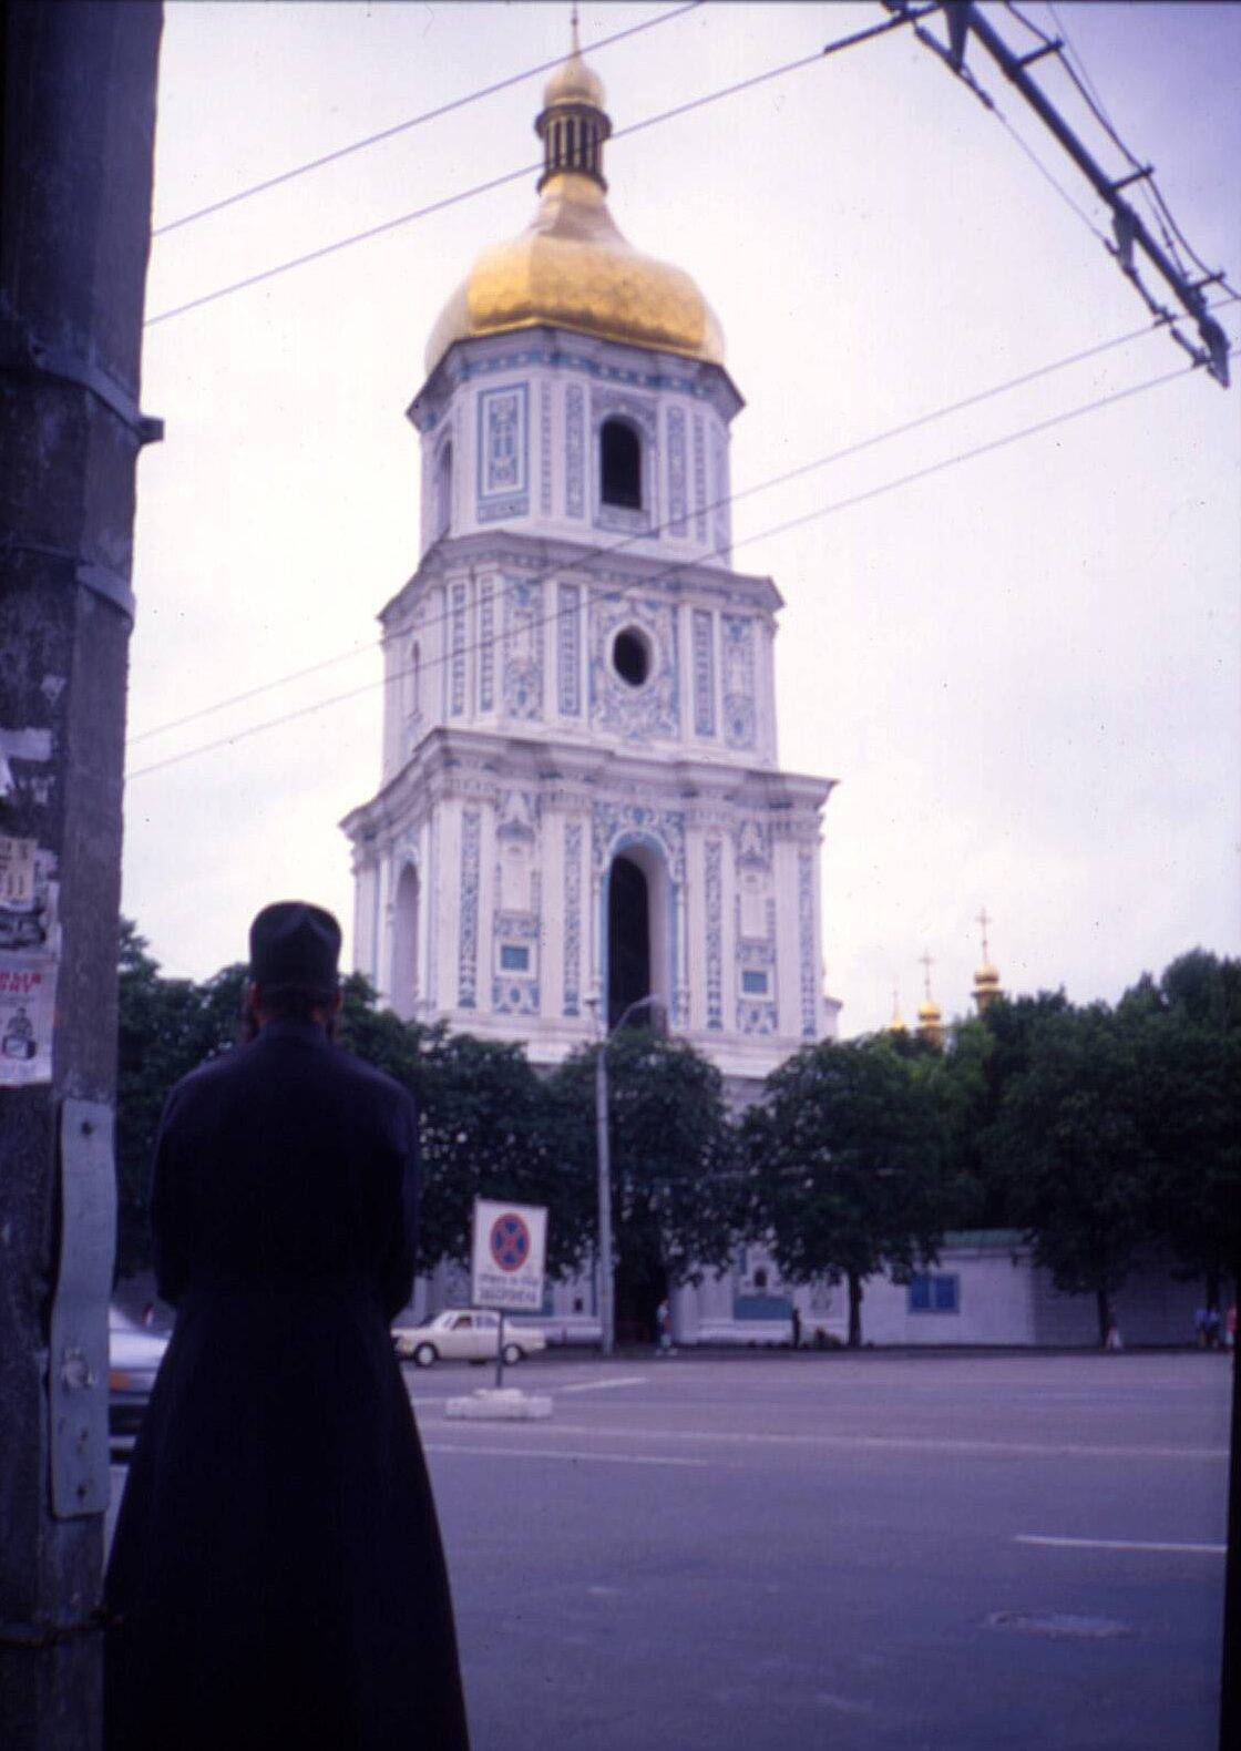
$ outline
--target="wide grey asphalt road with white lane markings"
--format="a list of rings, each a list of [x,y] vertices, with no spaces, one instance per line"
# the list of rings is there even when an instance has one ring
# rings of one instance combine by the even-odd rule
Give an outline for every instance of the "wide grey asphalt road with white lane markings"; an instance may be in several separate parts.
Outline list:
[[[406,1378],[476,1751],[1215,1751],[1220,1355]]]

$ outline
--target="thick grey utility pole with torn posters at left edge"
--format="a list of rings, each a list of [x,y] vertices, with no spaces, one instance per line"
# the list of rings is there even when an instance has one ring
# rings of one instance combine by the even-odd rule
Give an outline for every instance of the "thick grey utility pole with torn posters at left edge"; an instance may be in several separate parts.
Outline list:
[[[0,1744],[102,1742],[158,4],[0,0]]]

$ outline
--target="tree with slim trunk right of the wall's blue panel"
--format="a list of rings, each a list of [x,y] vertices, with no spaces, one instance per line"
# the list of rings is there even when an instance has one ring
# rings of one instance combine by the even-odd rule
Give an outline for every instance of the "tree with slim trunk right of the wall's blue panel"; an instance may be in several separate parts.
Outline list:
[[[1099,1343],[1111,1296],[1152,1234],[1153,1157],[1139,1122],[1148,1052],[1141,1026],[1104,1003],[1043,1016],[1029,1065],[987,1133],[991,1171],[1066,1294],[1092,1294]]]

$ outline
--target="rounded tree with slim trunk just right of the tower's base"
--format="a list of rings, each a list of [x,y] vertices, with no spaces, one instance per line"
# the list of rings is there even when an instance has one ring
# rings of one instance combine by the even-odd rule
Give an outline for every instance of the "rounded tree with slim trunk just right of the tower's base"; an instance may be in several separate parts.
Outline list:
[[[942,1119],[915,1061],[879,1035],[803,1047],[742,1126],[754,1222],[791,1282],[849,1285],[861,1343],[863,1278],[933,1261],[943,1229]]]

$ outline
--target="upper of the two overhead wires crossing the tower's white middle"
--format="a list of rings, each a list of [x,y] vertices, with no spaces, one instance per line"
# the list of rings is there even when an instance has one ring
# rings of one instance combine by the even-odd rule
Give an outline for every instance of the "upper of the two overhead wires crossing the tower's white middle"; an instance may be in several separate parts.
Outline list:
[[[1222,298],[1211,308],[1220,310],[1227,305],[1241,303],[1241,294],[1230,298]],[[712,499],[709,504],[702,506],[702,515],[709,517],[712,511],[723,510],[726,504],[740,504],[742,499],[751,499],[760,492],[770,492],[772,487],[788,485],[793,480],[800,480],[821,468],[830,468],[835,462],[844,462],[849,457],[861,455],[866,450],[873,450],[882,443],[889,443],[894,438],[905,438],[908,432],[919,431],[924,425],[933,425],[938,420],[950,418],[954,413],[964,413],[968,408],[977,408],[996,396],[1010,394],[1013,389],[1024,389],[1029,383],[1036,383],[1043,376],[1054,376],[1059,371],[1068,371],[1075,364],[1085,364],[1090,359],[1097,359],[1104,352],[1115,352],[1117,347],[1125,347],[1134,340],[1141,340],[1146,334],[1157,334],[1160,327],[1167,326],[1166,317],[1157,317],[1153,322],[1145,322],[1141,327],[1129,329],[1125,334],[1115,334],[1111,340],[1097,341],[1094,347],[1083,347],[1080,352],[1068,354],[1062,359],[1054,359],[1048,364],[1034,366],[1029,371],[1020,371],[1017,376],[1010,376],[1001,383],[991,383],[987,389],[973,390],[963,396],[959,401],[949,401],[942,408],[931,408],[926,413],[915,413],[908,420],[901,420],[898,425],[889,425],[880,432],[872,432],[868,438],[859,438],[842,450],[830,450],[826,455],[812,457],[809,462],[798,462],[793,468],[782,469],[779,475],[770,475],[767,480],[756,482],[753,487],[740,487],[737,492],[730,492],[719,499]],[[674,518],[667,518],[662,524],[655,524],[651,529],[644,529],[637,534],[623,536],[620,541],[595,543],[578,555],[572,562],[574,569],[590,566],[599,559],[611,559],[614,553],[625,548],[635,546],[637,543],[649,541],[655,536],[665,534],[672,527]],[[562,567],[553,567],[546,573],[539,573],[534,583],[546,583],[555,578]],[[431,615],[427,620],[420,622],[420,632],[431,632],[434,627],[446,625],[452,620],[452,611],[443,615]],[[319,674],[322,669],[331,669],[336,664],[348,662],[352,657],[359,657],[364,651],[373,651],[382,648],[376,646],[373,639],[364,644],[352,644],[345,651],[338,651],[334,657],[324,657],[319,662],[308,664],[305,669],[292,669],[289,674],[275,676],[271,681],[261,681],[257,686],[250,686],[242,693],[231,693],[226,699],[214,700],[210,706],[200,706],[194,711],[186,713],[180,718],[170,718],[165,723],[156,723],[147,730],[138,730],[131,735],[126,746],[135,748],[138,742],[151,741],[154,735],[163,735],[170,730],[184,728],[187,723],[196,723],[201,718],[214,716],[217,711],[228,711],[231,706],[245,704],[249,699],[257,699],[261,693],[270,693],[278,686],[287,686],[292,681],[301,681],[310,674]],[[369,685],[369,683],[368,683]]]

